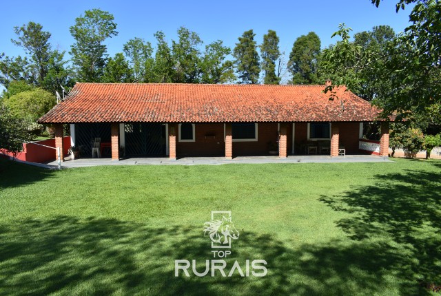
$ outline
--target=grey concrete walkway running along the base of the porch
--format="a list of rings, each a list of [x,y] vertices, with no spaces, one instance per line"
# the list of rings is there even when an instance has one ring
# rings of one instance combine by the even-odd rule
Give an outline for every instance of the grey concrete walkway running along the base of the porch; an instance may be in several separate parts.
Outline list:
[[[62,167],[94,167],[97,165],[225,165],[225,164],[262,164],[262,163],[335,163],[335,162],[391,162],[388,158],[370,155],[349,155],[331,158],[330,156],[288,156],[280,159],[278,156],[240,156],[232,160],[223,157],[185,157],[178,160],[168,158],[127,158],[123,160],[111,160],[110,158],[79,158],[70,160],[65,158],[61,162]],[[57,167],[57,161],[49,162],[49,167]]]

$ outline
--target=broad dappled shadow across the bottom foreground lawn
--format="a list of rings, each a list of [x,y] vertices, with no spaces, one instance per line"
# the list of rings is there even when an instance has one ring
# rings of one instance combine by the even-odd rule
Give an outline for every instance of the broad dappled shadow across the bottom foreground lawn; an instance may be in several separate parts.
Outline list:
[[[410,247],[410,246],[409,246]],[[212,259],[201,226],[152,227],[57,217],[0,226],[0,294],[373,295],[418,294],[416,264],[387,242],[302,244],[241,231],[234,260],[268,262],[266,277],[174,276],[174,260]],[[422,258],[428,255],[420,255]],[[433,258],[432,258],[433,259]],[[428,266],[429,268],[431,266]],[[198,265],[198,271],[203,270]],[[244,267],[243,267],[244,268]],[[430,269],[429,269],[430,270]],[[228,269],[229,271],[229,269]],[[227,271],[227,273],[228,273]],[[395,275],[396,279],[388,278]]]

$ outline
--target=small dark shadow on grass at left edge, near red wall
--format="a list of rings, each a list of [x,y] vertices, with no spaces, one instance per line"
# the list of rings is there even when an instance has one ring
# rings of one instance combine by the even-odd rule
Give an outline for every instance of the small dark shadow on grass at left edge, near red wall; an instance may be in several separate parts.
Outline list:
[[[25,165],[9,159],[0,158],[0,190],[8,187],[19,187],[38,182],[52,176],[54,171]]]

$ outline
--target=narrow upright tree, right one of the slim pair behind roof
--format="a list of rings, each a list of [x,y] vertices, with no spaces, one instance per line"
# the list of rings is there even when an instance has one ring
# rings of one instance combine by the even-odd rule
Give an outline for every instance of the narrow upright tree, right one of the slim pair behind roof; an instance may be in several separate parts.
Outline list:
[[[262,70],[265,72],[263,83],[278,84],[280,83],[280,76],[276,74],[276,61],[280,57],[280,50],[278,48],[278,36],[276,31],[268,30],[268,33],[263,35],[263,43],[260,45],[260,52],[262,55]]]

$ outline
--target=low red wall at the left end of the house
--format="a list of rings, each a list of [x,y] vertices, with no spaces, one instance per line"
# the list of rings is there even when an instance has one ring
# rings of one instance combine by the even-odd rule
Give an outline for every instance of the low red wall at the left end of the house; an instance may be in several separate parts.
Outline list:
[[[23,151],[17,153],[15,156],[19,160],[29,162],[49,162],[57,159],[55,149],[43,147],[34,143],[55,147],[55,139],[41,140],[30,143],[23,143]],[[63,137],[63,155],[67,155],[70,149],[70,136]],[[14,152],[1,150],[1,153],[8,156],[14,156]]]

